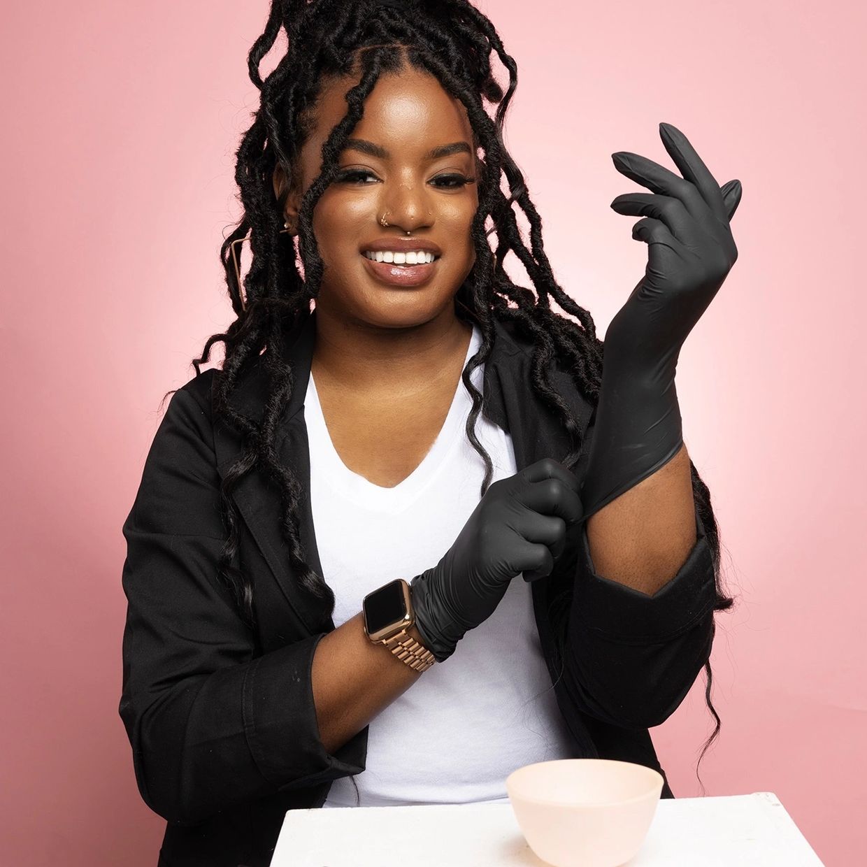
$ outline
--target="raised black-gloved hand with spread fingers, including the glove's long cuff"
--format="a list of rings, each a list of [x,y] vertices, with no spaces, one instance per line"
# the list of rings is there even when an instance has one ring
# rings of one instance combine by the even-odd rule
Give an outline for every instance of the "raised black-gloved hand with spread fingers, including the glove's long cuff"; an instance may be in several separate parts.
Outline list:
[[[720,189],[680,130],[661,123],[660,137],[682,178],[637,153],[612,154],[617,171],[653,191],[611,202],[618,213],[644,216],[632,237],[648,243],[649,261],[605,333],[581,488],[585,520],[680,451],[678,355],[738,257],[729,220],[740,203],[740,181]]]

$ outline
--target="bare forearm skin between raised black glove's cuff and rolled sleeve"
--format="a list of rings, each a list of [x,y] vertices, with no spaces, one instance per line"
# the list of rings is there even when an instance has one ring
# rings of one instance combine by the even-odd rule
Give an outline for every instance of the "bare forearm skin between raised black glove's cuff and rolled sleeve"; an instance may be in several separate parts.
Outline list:
[[[675,577],[696,538],[686,445],[587,521],[596,574],[648,596]]]

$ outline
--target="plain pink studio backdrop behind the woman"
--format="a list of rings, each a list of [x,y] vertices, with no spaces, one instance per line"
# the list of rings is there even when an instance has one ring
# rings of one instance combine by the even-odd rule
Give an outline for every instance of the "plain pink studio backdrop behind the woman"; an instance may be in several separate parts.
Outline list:
[[[640,277],[637,185],[679,127],[744,187],[740,259],[681,353],[688,451],[735,609],[708,795],[776,792],[826,864],[867,844],[860,3],[480,3],[519,65],[507,144],[600,335]],[[218,246],[267,5],[16,3],[4,16],[0,862],[153,865],[121,693],[121,524],[160,421],[231,320]],[[282,49],[281,49],[282,51]],[[850,160],[852,166],[850,166]],[[644,192],[642,188],[642,192]],[[704,675],[653,730],[680,797]],[[860,771],[858,770],[860,769]]]

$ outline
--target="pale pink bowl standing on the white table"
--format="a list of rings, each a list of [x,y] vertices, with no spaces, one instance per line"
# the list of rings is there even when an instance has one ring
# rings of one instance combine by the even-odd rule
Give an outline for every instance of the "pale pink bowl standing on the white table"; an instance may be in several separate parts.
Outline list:
[[[641,848],[662,774],[610,759],[525,765],[505,779],[518,827],[553,867],[619,867]]]

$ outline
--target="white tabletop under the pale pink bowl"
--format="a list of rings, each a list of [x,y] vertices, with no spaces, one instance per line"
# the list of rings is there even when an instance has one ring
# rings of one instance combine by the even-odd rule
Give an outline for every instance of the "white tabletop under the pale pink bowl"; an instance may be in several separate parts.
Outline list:
[[[511,804],[286,813],[271,867],[546,867]],[[773,792],[662,799],[626,867],[822,867]]]

